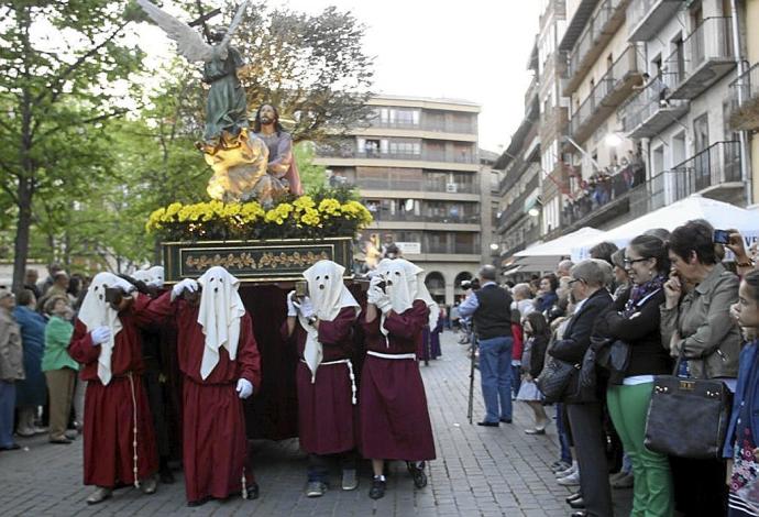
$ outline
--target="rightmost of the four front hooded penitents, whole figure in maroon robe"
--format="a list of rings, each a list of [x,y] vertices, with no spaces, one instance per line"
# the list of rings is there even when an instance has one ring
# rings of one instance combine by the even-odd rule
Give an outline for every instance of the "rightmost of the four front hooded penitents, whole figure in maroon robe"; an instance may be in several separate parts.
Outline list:
[[[383,260],[377,272],[363,318],[367,351],[360,408],[362,452],[374,471],[373,499],[385,495],[385,460],[405,460],[415,486],[427,485],[425,462],[435,459],[435,440],[416,351],[425,326],[435,328],[438,318],[424,270],[395,258]]]

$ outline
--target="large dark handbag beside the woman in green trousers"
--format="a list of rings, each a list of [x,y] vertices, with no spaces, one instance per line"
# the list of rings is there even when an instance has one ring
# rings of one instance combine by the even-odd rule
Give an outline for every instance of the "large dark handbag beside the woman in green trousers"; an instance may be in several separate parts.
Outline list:
[[[681,361],[682,352],[675,372]],[[654,376],[646,448],[680,458],[722,458],[732,400],[733,394],[721,380]]]

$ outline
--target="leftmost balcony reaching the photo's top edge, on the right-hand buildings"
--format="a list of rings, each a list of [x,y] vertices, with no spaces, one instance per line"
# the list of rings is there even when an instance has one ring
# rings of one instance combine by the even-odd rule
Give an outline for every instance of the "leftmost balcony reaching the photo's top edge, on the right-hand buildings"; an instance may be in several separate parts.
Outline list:
[[[604,0],[569,54],[563,95],[572,95],[625,21],[629,0]]]

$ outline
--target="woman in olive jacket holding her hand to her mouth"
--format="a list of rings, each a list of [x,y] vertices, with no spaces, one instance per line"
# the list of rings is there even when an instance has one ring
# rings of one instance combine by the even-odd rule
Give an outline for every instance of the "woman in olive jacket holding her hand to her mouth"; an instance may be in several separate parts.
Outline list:
[[[672,358],[682,356],[678,375],[721,378],[735,388],[741,338],[728,312],[738,300],[738,277],[717,262],[713,233],[710,226],[690,221],[670,235],[672,274],[664,283],[661,337]],[[693,516],[724,515],[724,462],[670,460],[676,509]]]

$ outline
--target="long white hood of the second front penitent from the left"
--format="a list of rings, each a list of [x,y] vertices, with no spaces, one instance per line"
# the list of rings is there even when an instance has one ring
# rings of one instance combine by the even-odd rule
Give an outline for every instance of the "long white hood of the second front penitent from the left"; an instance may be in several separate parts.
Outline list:
[[[211,267],[198,278],[198,284],[202,288],[198,323],[206,336],[200,377],[206,380],[219,363],[219,349],[226,348],[229,359],[237,359],[240,319],[245,307],[238,294],[240,280],[223,267]]]

